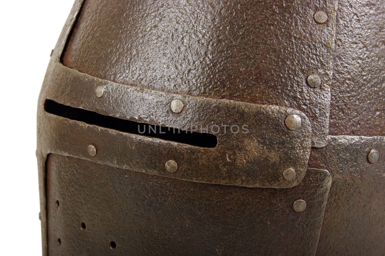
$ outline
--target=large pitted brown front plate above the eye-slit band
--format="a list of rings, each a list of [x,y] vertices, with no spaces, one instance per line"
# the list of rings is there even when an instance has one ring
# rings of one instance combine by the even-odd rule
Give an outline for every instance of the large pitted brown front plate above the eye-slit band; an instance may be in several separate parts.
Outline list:
[[[86,0],[62,61],[121,84],[295,108],[311,121],[312,145],[322,147],[336,7],[336,0]],[[324,24],[314,20],[318,10],[328,15]],[[310,74],[320,87],[308,86]]]

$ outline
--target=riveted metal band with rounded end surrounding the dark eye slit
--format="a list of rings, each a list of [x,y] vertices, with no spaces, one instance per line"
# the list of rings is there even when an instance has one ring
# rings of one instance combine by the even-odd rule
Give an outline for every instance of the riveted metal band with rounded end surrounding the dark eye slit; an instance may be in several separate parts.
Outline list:
[[[306,116],[299,111],[122,86],[60,63],[51,67],[39,101],[39,150],[45,154],[71,155],[183,180],[246,187],[292,187],[305,176],[311,128]],[[100,98],[95,94],[98,86],[104,87]],[[171,101],[176,98],[185,105],[179,114],[170,108]],[[194,147],[55,116],[44,112],[45,99],[142,123],[170,127],[238,124],[240,127],[248,125],[249,132],[234,134],[221,129],[216,134],[218,145],[215,148]],[[285,119],[291,114],[301,117],[298,130],[285,126]],[[87,153],[89,144],[97,147],[95,157]],[[179,166],[175,173],[163,168],[170,159]],[[295,170],[295,179],[285,179],[283,172],[287,168]]]

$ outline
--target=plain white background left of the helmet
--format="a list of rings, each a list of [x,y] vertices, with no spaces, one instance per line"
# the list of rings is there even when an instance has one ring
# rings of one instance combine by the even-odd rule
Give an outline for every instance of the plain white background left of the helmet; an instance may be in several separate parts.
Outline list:
[[[50,52],[74,0],[2,1],[0,255],[41,255],[36,111]]]

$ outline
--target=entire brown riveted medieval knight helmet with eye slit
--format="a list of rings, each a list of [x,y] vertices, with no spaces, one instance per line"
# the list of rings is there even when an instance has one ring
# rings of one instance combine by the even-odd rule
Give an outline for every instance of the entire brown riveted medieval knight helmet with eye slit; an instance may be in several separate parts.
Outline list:
[[[384,0],[76,0],[43,253],[383,255],[384,38]]]

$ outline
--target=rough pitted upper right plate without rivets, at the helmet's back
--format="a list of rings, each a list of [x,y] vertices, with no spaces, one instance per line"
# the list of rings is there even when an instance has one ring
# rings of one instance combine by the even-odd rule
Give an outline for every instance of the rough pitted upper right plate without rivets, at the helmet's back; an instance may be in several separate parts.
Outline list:
[[[385,135],[385,0],[338,0],[330,135]]]

